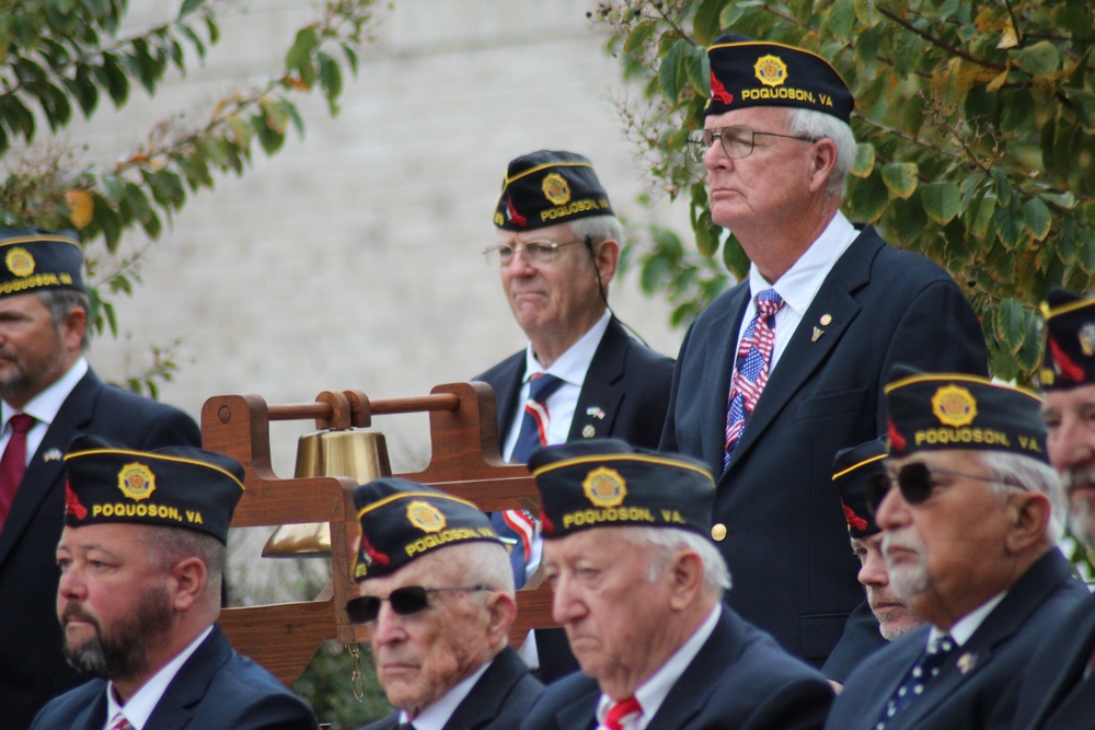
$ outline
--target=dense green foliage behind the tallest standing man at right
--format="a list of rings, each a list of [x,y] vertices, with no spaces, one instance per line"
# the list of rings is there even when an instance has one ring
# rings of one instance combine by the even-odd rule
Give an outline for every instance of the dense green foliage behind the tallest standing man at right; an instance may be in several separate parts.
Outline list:
[[[992,370],[1030,382],[1037,303],[1095,285],[1095,5],[1087,0],[601,2],[607,49],[641,99],[622,116],[653,186],[689,201],[694,246],[656,229],[629,243],[644,290],[688,324],[748,260],[714,225],[684,136],[703,126],[705,47],[724,30],[829,59],[856,99],[845,212],[963,286]],[[695,253],[698,252],[698,253]]]

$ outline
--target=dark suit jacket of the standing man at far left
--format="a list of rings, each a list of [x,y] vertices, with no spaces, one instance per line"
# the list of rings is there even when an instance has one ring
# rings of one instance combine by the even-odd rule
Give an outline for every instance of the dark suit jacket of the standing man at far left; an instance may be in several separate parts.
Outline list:
[[[57,623],[57,542],[65,517],[62,461],[78,433],[135,449],[200,445],[194,419],[113,385],[95,373],[77,383],[32,456],[0,533],[0,707],[23,730],[50,697],[81,682],[66,663]],[[49,454],[49,460],[46,455]]]

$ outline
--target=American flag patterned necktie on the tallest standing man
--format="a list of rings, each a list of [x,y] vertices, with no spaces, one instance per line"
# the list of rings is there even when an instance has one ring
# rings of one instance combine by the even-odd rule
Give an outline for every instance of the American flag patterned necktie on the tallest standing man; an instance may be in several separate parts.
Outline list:
[[[775,345],[775,313],[783,306],[783,298],[775,289],[765,289],[757,294],[757,314],[753,315],[745,335],[738,344],[734,360],[734,376],[730,380],[730,402],[726,414],[726,451],[723,468],[730,464],[746,419],[757,407],[761,391],[768,383],[772,363],[772,347]]]

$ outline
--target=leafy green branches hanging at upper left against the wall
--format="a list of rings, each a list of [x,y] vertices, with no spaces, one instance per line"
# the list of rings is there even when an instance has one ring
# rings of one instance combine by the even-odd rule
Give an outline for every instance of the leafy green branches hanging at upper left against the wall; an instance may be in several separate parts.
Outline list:
[[[127,0],[37,0],[4,3],[0,13],[0,225],[74,229],[88,248],[116,254],[123,234],[149,240],[182,209],[189,195],[212,189],[215,173],[243,174],[257,144],[267,155],[285,143],[289,128],[304,125],[293,99],[318,89],[331,114],[338,111],[343,68],[357,73],[358,50],[370,39],[376,0],[325,0],[316,19],[300,28],[285,66],[257,88],[217,102],[205,120],[183,128],[158,123],[132,151],[108,167],[80,166],[57,139],[72,120],[103,113],[106,99],[120,108],[134,86],[152,96],[169,72],[185,76],[220,40],[217,12],[224,0],[180,0],[177,16],[123,35]],[[200,115],[198,115],[200,116]],[[39,121],[48,125],[48,135]],[[91,276],[92,327],[117,336],[110,298],[131,291],[134,262],[99,279]],[[105,290],[105,291],[104,291]],[[173,348],[153,352],[152,367],[130,383],[154,393],[169,379]]]

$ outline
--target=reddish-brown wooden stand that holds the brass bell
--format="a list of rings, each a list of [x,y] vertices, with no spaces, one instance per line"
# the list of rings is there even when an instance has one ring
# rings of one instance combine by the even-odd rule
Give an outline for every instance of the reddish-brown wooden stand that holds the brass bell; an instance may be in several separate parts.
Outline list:
[[[244,491],[233,528],[327,522],[332,582],[313,601],[224,609],[220,626],[241,654],[292,686],[320,646],[366,640],[365,628],[346,616],[357,595],[350,578],[359,534],[349,477],[283,479],[270,465],[272,420],[314,419],[316,429],[368,428],[372,416],[429,413],[431,454],[422,472],[396,474],[475,502],[485,512],[523,508],[539,513],[535,483],[522,464],[506,464],[498,449],[494,391],[485,383],[448,383],[429,395],[370,401],[360,391],[325,391],[314,403],[267,405],[257,395],[218,395],[201,407],[201,445],[238,460]],[[537,571],[517,592],[510,644],[520,646],[530,628],[557,626],[551,590]]]

